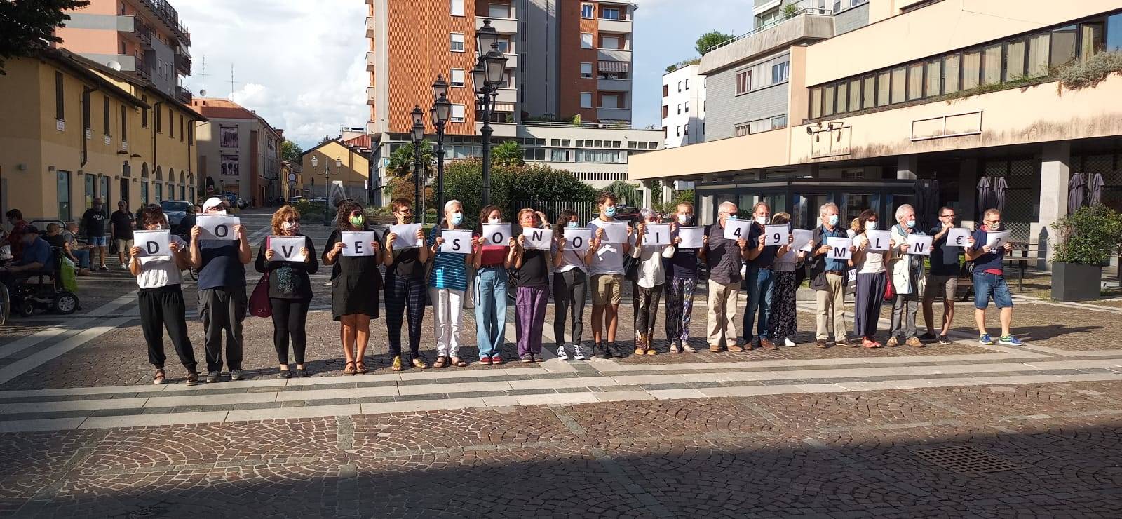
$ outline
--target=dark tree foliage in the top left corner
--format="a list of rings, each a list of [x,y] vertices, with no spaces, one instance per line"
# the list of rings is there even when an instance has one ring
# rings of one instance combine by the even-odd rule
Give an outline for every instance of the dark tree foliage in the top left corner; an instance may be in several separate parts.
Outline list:
[[[89,0],[0,1],[0,75],[4,75],[4,60],[31,56],[62,43],[55,29],[70,19],[63,11],[89,4]]]

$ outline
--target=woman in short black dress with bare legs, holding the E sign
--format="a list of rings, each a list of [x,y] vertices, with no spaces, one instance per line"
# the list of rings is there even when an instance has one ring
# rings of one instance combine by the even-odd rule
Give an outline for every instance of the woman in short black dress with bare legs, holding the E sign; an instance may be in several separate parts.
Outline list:
[[[381,289],[381,244],[370,235],[370,242],[348,240],[343,233],[370,231],[366,226],[362,206],[348,200],[339,204],[335,213],[338,228],[328,238],[323,249],[323,264],[331,268],[331,313],[340,322],[339,336],[343,343],[347,365],[344,375],[366,373],[366,345],[370,340],[370,319],[378,318],[378,290]],[[343,249],[367,246],[365,256],[344,256]]]

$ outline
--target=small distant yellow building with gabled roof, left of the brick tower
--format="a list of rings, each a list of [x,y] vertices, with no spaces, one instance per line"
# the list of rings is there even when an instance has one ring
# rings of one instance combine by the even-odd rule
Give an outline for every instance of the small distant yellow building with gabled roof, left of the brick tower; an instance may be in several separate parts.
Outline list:
[[[304,197],[327,197],[324,186],[329,176],[324,172],[330,170],[331,184],[335,186],[331,191],[333,199],[341,189],[347,198],[366,200],[370,174],[369,149],[349,142],[329,140],[304,152],[301,157]]]

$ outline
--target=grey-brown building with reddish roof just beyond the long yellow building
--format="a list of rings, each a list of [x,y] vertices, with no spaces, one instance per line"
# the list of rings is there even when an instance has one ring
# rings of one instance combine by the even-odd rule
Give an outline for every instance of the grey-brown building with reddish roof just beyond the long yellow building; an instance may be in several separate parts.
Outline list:
[[[233,193],[256,207],[280,197],[284,130],[227,99],[195,98],[191,108],[208,119],[195,128],[208,193]]]

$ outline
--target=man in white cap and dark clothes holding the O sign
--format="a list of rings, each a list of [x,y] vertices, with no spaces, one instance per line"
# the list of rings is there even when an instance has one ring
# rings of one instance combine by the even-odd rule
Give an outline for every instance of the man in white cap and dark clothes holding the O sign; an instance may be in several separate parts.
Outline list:
[[[203,213],[226,215],[224,200],[203,202]],[[236,240],[199,239],[202,229],[191,228],[191,264],[199,270],[199,317],[205,330],[206,382],[218,382],[222,372],[222,330],[226,330],[226,365],[230,380],[241,380],[241,321],[246,318],[246,264],[252,261],[246,229],[233,226]]]

